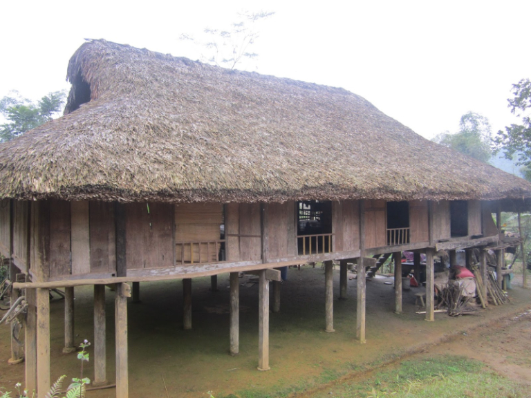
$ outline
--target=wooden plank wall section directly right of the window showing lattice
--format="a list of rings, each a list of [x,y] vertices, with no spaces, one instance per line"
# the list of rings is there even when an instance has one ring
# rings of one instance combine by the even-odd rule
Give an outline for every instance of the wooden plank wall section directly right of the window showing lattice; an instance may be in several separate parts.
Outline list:
[[[332,202],[332,246],[334,252],[360,249],[360,202]]]

